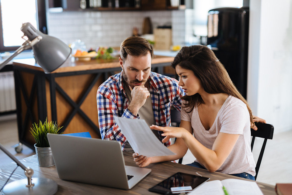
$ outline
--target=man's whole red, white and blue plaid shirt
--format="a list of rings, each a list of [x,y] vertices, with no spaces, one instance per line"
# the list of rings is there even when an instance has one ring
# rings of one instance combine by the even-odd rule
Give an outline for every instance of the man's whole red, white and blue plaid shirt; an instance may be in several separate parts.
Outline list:
[[[180,111],[182,105],[181,97],[184,91],[174,78],[151,72],[149,76],[149,91],[152,102],[152,109],[155,118],[155,125],[171,126],[170,108],[174,106]],[[121,143],[122,150],[126,137],[116,124],[113,116],[139,119],[133,115],[128,108],[128,98],[123,90],[122,73],[109,77],[97,90],[96,95],[99,130],[102,139],[116,140]],[[163,132],[158,131],[159,139],[164,137]],[[169,142],[165,143],[170,145]]]

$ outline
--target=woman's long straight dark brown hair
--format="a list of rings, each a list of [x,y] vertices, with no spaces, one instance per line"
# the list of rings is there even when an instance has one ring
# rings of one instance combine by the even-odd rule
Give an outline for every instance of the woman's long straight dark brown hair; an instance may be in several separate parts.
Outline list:
[[[226,93],[243,101],[249,111],[250,122],[254,125],[249,104],[231,81],[223,64],[207,46],[182,47],[171,64],[173,68],[176,68],[177,65],[184,69],[192,70],[195,76],[200,79],[203,89],[207,93]],[[192,96],[184,96],[182,99],[187,101],[187,104],[183,106],[187,112],[191,112],[194,106],[204,103],[198,93]]]

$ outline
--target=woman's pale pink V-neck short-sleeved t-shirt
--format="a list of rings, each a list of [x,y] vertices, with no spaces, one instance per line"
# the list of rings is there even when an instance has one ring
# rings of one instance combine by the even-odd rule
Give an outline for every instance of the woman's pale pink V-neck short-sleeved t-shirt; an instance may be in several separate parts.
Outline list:
[[[229,95],[208,131],[203,127],[196,107],[190,113],[184,110],[185,108],[181,110],[181,119],[191,122],[195,138],[209,149],[212,149],[219,132],[239,134],[234,148],[217,172],[225,174],[249,173],[255,176],[255,161],[250,146],[249,111],[244,102]],[[196,160],[196,162],[199,161]]]

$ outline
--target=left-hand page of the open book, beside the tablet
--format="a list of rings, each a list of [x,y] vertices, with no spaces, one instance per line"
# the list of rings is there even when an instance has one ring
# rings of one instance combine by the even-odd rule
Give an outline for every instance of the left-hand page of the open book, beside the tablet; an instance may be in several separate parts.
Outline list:
[[[207,181],[203,185],[193,189],[188,195],[224,195],[220,180]]]

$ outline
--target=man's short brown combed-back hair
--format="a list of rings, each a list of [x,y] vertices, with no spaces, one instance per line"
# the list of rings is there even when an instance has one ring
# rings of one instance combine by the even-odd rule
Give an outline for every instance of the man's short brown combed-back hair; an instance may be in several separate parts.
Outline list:
[[[130,36],[121,43],[121,58],[126,60],[128,55],[146,56],[148,51],[153,59],[153,48],[147,39],[139,36]]]

